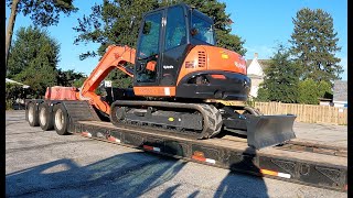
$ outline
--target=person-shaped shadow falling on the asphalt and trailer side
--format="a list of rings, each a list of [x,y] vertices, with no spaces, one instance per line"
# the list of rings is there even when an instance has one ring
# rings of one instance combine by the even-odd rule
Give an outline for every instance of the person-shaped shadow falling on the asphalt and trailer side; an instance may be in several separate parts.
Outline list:
[[[254,164],[255,156],[256,151],[247,147],[242,155],[229,157],[237,162],[231,164],[232,172],[220,184],[214,194],[215,198],[269,197],[263,177],[238,172],[240,169],[249,173],[260,173],[260,169]]]

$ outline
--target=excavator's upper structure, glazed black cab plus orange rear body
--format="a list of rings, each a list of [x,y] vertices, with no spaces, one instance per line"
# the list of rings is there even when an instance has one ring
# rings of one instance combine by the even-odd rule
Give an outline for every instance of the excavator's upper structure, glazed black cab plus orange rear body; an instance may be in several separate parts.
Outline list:
[[[246,100],[245,59],[216,47],[214,22],[184,3],[143,15],[135,59],[137,96]]]

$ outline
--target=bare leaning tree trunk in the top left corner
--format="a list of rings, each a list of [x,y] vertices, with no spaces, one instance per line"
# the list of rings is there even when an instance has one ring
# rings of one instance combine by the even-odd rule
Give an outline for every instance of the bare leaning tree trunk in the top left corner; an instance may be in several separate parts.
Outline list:
[[[20,0],[12,0],[12,7],[11,7],[11,14],[8,23],[8,29],[7,29],[7,38],[6,38],[6,70],[8,70],[8,58],[9,58],[9,51],[11,46],[11,38],[13,34],[13,26],[14,26],[14,21],[15,21],[15,15],[18,12],[18,4]]]

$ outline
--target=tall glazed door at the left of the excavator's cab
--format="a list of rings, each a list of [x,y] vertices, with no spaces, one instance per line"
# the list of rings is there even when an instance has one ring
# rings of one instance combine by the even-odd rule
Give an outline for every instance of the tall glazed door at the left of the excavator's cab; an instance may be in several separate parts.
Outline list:
[[[135,61],[133,86],[159,85],[162,21],[163,10],[148,13],[143,18]]]

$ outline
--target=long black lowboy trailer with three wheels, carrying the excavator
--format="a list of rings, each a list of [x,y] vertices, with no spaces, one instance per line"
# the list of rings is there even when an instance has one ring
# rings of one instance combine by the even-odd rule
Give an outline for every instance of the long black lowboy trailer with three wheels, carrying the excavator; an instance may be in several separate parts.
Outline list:
[[[57,111],[62,113],[54,113]],[[25,119],[30,125],[41,125],[43,130],[53,124],[61,135],[81,134],[233,172],[347,190],[345,147],[295,139],[282,145],[257,151],[248,146],[246,140],[232,135],[192,140],[169,135],[148,125],[117,128],[111,122],[100,120],[87,101],[26,100]]]

